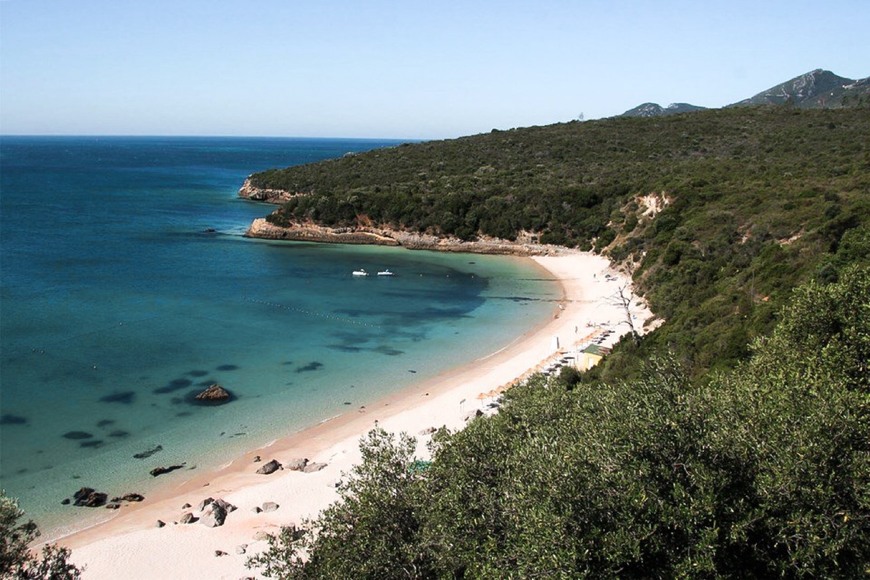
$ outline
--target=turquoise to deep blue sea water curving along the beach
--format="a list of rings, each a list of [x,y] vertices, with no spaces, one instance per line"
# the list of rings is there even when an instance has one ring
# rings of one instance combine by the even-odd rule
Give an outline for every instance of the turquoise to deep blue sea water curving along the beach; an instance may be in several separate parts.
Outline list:
[[[394,144],[0,138],[0,485],[30,517],[107,517],[60,502],[147,495],[185,477],[158,465],[214,467],[550,315],[524,260],[241,236],[272,209],[237,198],[249,173]],[[195,404],[215,382],[232,402]]]

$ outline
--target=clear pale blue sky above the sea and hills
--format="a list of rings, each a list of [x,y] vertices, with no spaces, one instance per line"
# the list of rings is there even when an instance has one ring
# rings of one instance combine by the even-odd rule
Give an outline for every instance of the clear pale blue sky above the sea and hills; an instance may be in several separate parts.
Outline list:
[[[0,0],[0,133],[457,137],[870,75],[870,0]]]

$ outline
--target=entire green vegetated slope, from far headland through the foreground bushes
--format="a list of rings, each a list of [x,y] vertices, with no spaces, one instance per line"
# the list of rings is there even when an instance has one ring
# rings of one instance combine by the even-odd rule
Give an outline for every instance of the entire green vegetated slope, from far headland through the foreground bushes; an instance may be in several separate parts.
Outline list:
[[[591,248],[665,323],[433,438],[373,431],[280,578],[870,574],[870,111],[733,108],[406,145],[254,176],[277,224]]]

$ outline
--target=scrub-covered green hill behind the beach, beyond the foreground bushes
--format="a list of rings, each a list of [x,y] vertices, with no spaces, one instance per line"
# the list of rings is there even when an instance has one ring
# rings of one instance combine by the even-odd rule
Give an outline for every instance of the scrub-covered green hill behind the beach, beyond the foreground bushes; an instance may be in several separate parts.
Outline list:
[[[277,225],[531,232],[603,252],[668,323],[598,372],[631,374],[627,358],[668,350],[698,375],[743,359],[799,283],[868,259],[868,135],[867,108],[741,107],[493,131],[251,181],[305,194]]]

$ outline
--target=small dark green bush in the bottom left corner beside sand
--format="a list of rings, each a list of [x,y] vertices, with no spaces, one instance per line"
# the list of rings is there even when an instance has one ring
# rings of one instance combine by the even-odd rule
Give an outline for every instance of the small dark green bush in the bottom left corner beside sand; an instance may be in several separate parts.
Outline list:
[[[20,522],[24,512],[17,502],[0,491],[0,577],[23,580],[77,580],[81,570],[69,562],[70,551],[54,544],[43,546],[40,555],[28,544],[39,537],[32,520]]]

